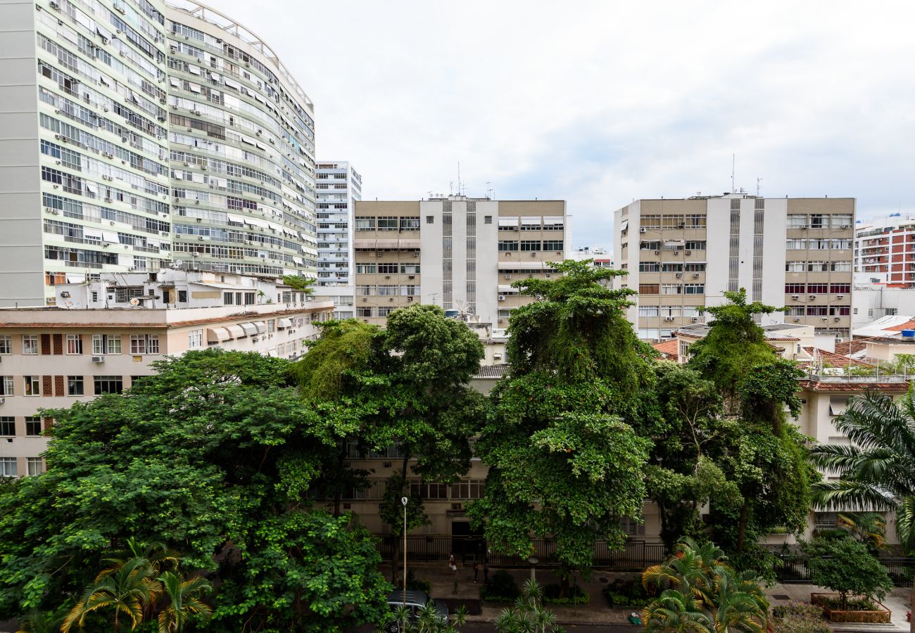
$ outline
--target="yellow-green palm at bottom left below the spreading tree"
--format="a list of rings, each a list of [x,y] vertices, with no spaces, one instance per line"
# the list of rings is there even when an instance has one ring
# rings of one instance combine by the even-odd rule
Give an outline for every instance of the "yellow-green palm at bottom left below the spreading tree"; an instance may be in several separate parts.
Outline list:
[[[156,602],[162,588],[155,572],[142,557],[125,561],[114,570],[103,570],[92,585],[86,587],[80,602],[64,618],[62,633],[76,624],[82,627],[93,611],[113,609],[114,630],[120,629],[121,614],[130,618],[131,630],[143,621],[143,609]]]

